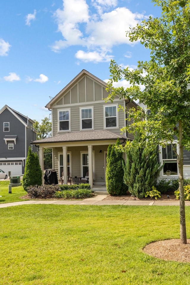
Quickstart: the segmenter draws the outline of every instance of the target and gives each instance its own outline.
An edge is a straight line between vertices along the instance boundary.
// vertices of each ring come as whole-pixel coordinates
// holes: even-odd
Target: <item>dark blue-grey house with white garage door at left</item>
[[[38,151],[31,145],[37,133],[33,124],[34,121],[7,105],[0,110],[0,169],[7,174],[11,171],[11,175],[22,175],[29,146]]]

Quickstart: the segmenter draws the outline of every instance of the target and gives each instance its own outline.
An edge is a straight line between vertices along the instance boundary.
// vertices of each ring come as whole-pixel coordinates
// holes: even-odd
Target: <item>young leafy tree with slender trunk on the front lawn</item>
[[[160,18],[148,18],[130,29],[127,36],[131,42],[140,40],[145,48],[150,49],[150,61],[138,61],[137,68],[130,71],[111,61],[111,79],[108,89],[112,94],[107,100],[113,100],[117,94],[120,98],[140,100],[151,110],[147,115],[143,110],[129,111],[129,119],[134,123],[127,126],[128,132],[140,130],[148,141],[147,146],[178,138],[177,155],[180,191],[180,239],[186,241],[185,202],[183,189],[183,148],[190,149],[190,92],[187,83],[190,79],[190,1],[189,0],[154,0],[162,10]],[[114,88],[113,82],[125,78],[129,88]],[[139,84],[145,86],[140,91]],[[144,118],[143,121],[142,118]],[[134,142],[135,143],[135,142]],[[137,145],[137,144],[136,144]],[[138,144],[140,147],[142,143]],[[126,148],[133,143],[126,144]]]

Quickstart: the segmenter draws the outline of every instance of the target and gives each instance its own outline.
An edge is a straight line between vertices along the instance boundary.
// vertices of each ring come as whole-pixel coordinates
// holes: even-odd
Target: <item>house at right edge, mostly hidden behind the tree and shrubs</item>
[[[189,89],[189,88],[188,88]],[[147,112],[147,106],[144,104],[140,104],[140,107],[142,107],[145,112]],[[178,151],[178,140],[173,140],[172,142],[175,149]],[[164,164],[164,167],[162,168],[159,179],[172,179],[179,177],[179,170],[178,170],[178,164],[177,164],[177,156],[175,152],[172,149],[171,142],[167,142],[165,144],[165,148],[162,146],[159,146],[159,157],[158,161],[161,162],[161,164]],[[183,151],[183,176],[184,178],[190,177],[190,151],[187,151],[184,149]]]

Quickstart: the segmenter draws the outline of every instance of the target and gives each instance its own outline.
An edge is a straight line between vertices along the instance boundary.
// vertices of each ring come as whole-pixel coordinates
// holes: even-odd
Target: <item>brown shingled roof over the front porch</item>
[[[115,134],[108,130],[98,130],[98,131],[80,131],[80,132],[67,132],[60,134],[59,136],[48,137],[42,140],[35,140],[32,143],[60,143],[60,142],[80,142],[80,141],[92,141],[92,140],[117,140],[123,139],[127,140],[125,136],[121,134]]]

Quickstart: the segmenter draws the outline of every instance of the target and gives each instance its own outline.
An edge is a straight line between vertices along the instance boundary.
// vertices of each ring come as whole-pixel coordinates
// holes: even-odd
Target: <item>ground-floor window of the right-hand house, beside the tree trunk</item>
[[[176,143],[173,143],[173,147],[177,151]],[[171,144],[166,144],[165,148],[162,147],[162,163],[164,163],[162,175],[178,175],[177,155],[174,149]]]

